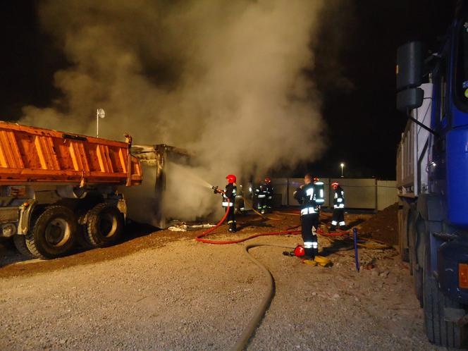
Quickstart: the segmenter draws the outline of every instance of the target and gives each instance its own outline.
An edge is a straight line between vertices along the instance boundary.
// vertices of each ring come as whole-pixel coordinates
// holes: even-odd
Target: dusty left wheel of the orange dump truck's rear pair
[[[64,206],[46,207],[26,234],[27,249],[41,259],[61,257],[73,248],[77,228],[73,211]]]

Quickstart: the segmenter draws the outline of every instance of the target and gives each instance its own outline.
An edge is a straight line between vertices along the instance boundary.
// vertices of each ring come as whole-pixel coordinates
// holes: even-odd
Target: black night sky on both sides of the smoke
[[[297,173],[307,168],[338,176],[344,161],[345,176],[395,178],[395,153],[406,123],[395,110],[396,48],[410,39],[433,44],[450,23],[454,3],[350,0],[343,1],[343,11],[326,8],[321,13],[316,69],[309,74],[323,97],[329,148],[321,161]],[[53,74],[67,65],[60,49],[39,30],[35,4],[0,1],[1,120],[18,118],[26,104],[48,106],[58,94]]]

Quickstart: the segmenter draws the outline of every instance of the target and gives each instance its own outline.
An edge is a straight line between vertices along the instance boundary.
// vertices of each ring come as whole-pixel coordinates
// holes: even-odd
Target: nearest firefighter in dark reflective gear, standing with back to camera
[[[319,253],[316,230],[319,228],[319,204],[316,203],[316,187],[312,176],[304,176],[305,185],[294,192],[294,198],[301,205],[302,240],[304,240],[304,258],[314,259]]]

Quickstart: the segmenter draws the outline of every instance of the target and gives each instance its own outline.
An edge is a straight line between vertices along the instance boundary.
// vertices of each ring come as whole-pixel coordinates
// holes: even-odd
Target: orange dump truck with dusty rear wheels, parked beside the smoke
[[[123,234],[120,185],[140,185],[131,141],[116,142],[0,122],[0,237],[51,259],[110,245]]]

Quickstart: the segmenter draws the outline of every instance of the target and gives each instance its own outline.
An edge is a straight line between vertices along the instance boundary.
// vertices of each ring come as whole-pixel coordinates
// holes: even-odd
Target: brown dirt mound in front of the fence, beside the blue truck
[[[362,223],[358,230],[362,235],[369,235],[382,240],[388,245],[398,244],[398,203],[386,207],[372,218]]]

